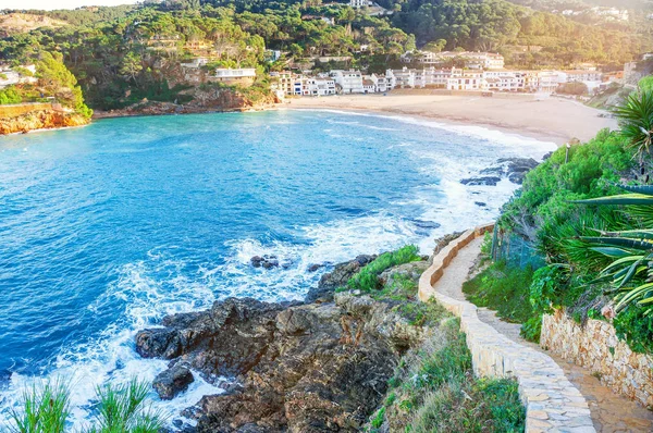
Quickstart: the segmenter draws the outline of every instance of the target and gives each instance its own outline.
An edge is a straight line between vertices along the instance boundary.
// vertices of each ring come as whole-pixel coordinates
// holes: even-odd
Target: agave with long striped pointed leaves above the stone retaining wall
[[[653,186],[620,187],[630,194],[577,202],[629,206],[631,213],[653,218]],[[616,311],[621,311],[634,301],[653,307],[653,228],[597,233],[600,236],[583,236],[581,239],[590,244],[592,250],[614,260],[601,271],[597,281],[612,280],[613,292],[616,293]]]

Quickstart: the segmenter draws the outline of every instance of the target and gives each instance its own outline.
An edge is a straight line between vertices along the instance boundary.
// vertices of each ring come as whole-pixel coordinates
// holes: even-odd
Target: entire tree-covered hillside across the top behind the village
[[[637,33],[586,25],[505,0],[381,0],[394,13],[318,0],[168,0],[140,5],[29,11],[66,23],[30,28],[0,39],[0,62],[34,63],[57,52],[76,77],[89,106],[120,109],[144,99],[192,100],[181,64],[210,59],[214,67],[254,67],[252,92],[269,87],[267,74],[292,66],[357,67],[382,72],[402,53],[483,50],[508,65],[567,67],[578,62],[623,64],[651,40]],[[9,12],[17,11],[5,11]],[[269,51],[281,59],[271,62]],[[326,63],[319,58],[335,58]]]

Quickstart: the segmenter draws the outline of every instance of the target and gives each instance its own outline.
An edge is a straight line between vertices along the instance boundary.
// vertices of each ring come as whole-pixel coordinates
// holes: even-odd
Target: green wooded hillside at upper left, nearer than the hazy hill
[[[414,39],[386,20],[357,14],[343,7],[310,7],[292,2],[266,8],[235,4],[160,4],[100,8],[47,14],[74,25],[39,28],[0,40],[0,59],[33,62],[41,52],[61,52],[79,81],[91,107],[121,108],[143,98],[174,101],[183,88],[180,63],[209,57],[211,67],[283,69],[266,62],[267,49],[291,53],[296,60],[356,53],[357,65],[385,64],[415,47]],[[333,18],[331,25],[320,17]],[[360,53],[360,46],[367,47]],[[352,63],[350,63],[352,64]]]

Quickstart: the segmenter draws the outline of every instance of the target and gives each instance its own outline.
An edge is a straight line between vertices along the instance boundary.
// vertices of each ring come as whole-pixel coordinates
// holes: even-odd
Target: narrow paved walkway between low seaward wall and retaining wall
[[[482,242],[482,237],[477,238],[458,252],[458,256],[444,270],[442,277],[434,284],[435,290],[454,299],[465,300],[463,283],[467,280],[469,270],[480,253]],[[494,311],[485,308],[479,308],[478,317],[509,339],[549,355],[586,397],[596,432],[653,432],[652,411],[626,397],[614,394],[586,369],[543,350],[537,344],[525,341],[519,336],[521,325],[504,322],[496,317]]]

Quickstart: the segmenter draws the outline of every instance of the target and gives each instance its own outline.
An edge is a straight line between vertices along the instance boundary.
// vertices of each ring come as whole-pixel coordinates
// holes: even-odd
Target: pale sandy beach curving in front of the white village
[[[289,109],[359,110],[426,117],[446,123],[479,125],[531,138],[554,141],[558,146],[572,138],[587,141],[605,127],[616,128],[604,111],[582,103],[530,95],[493,98],[480,96],[420,95],[402,91],[383,95],[352,95],[287,99]]]

